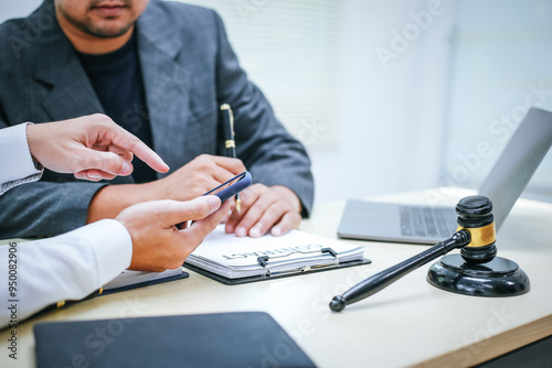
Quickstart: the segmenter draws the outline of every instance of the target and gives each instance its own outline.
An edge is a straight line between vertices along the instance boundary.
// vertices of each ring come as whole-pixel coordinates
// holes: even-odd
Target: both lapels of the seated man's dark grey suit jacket
[[[53,15],[47,7],[53,9],[53,3],[44,2],[36,15]],[[150,1],[137,22],[138,50],[153,149],[169,166],[178,169],[190,160],[184,158],[187,125],[192,115],[191,75],[179,56],[185,50],[185,36],[176,37],[170,26],[160,24],[163,15],[156,1]],[[41,61],[35,67],[35,79],[52,86],[42,105],[50,119],[104,112],[73,46],[55,20],[33,53],[34,59]]]

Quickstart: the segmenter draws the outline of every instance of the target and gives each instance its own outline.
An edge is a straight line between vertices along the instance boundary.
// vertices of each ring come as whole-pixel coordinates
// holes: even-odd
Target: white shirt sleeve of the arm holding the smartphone
[[[87,296],[127,269],[131,257],[130,235],[113,219],[0,246],[0,328],[11,325],[13,311],[19,323],[51,304]]]

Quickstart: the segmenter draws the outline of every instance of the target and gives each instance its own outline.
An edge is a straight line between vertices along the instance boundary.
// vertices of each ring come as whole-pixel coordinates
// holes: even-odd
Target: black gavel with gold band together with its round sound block
[[[456,205],[458,229],[453,236],[396,266],[381,271],[354,285],[330,302],[330,309],[342,311],[346,305],[368,297],[403,275],[460,248],[460,255],[445,256],[432,266],[429,284],[455,293],[476,296],[512,296],[527,293],[529,278],[519,266],[496,257],[497,247],[492,203],[485,196],[470,196]]]

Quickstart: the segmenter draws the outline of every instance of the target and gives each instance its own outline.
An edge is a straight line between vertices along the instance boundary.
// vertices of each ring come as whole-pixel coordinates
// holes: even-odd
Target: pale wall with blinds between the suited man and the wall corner
[[[308,138],[302,141],[312,158],[317,201],[436,185],[455,13],[449,3],[188,1],[219,11],[252,80],[263,88],[288,129],[299,139]],[[328,14],[328,9],[333,13]],[[290,19],[300,22],[301,17],[304,23]],[[326,29],[317,29],[312,20]],[[290,30],[295,32],[291,40]],[[326,42],[320,41],[322,36]],[[309,59],[304,71],[295,66],[301,46],[297,40],[305,42],[301,52],[311,50],[320,56]],[[286,43],[293,43],[287,55],[273,57],[272,52],[285,51]],[[269,50],[272,55],[263,57],[259,50]],[[388,54],[379,57],[378,52]],[[312,69],[321,65],[326,74],[314,80]],[[331,90],[322,96],[319,88]],[[320,101],[314,104],[317,98]],[[293,99],[305,105],[304,111],[290,107]]]

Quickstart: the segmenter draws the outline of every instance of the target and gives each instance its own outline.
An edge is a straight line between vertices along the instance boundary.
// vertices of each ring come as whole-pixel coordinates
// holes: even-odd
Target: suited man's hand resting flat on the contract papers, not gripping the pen
[[[285,186],[254,184],[251,190],[243,191],[241,197],[242,212],[232,212],[226,220],[226,232],[256,238],[270,228],[273,236],[279,236],[299,226],[300,201]]]

